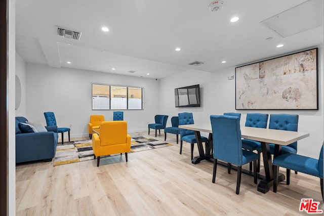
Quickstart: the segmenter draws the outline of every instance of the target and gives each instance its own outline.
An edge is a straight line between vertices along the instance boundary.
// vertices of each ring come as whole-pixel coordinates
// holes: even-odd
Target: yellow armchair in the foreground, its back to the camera
[[[103,121],[100,124],[99,135],[92,135],[92,149],[99,166],[100,156],[125,153],[131,151],[131,136],[127,134],[126,121]]]

